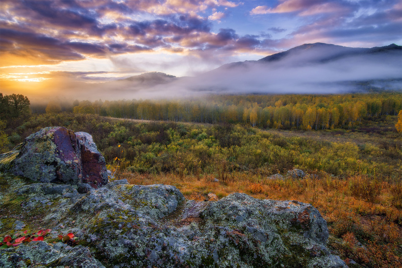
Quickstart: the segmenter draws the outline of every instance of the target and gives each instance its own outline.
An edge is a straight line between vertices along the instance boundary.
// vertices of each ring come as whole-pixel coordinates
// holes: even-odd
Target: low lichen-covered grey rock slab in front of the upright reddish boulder
[[[1,176],[2,185],[13,185],[1,188],[0,212],[11,215],[1,218],[2,235],[18,223],[50,228],[50,238],[73,232],[79,240],[73,247],[30,242],[0,249],[1,267],[13,260],[49,267],[346,267],[328,251],[327,223],[310,204],[238,193],[198,202],[174,186],[126,180],[80,194],[75,185]],[[7,203],[14,196],[21,206]],[[78,256],[87,265],[73,263]]]

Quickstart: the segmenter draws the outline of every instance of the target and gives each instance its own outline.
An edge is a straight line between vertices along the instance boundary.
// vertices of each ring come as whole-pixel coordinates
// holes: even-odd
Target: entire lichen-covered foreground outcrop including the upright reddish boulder
[[[169,185],[106,184],[88,133],[44,128],[0,166],[31,179],[0,173],[0,267],[346,267],[312,205],[239,193],[198,202]],[[17,238],[38,229],[45,241]]]

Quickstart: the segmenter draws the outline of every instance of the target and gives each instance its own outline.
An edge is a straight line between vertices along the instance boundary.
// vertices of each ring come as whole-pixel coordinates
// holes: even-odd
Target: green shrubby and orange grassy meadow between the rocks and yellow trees
[[[285,96],[280,103],[274,97],[278,111],[289,104],[285,98],[292,97]],[[320,106],[338,98],[310,100]],[[370,98],[356,97],[368,101],[365,112],[360,109],[360,117],[353,123],[344,116],[343,124],[317,130],[303,127],[303,121],[301,127],[289,122],[289,130],[283,130],[264,124],[253,127],[250,119],[215,123],[144,121],[104,117],[74,108],[74,113],[49,110],[31,114],[18,123],[9,123],[12,127],[3,133],[10,148],[45,126],[88,132],[113,172],[112,180],[170,184],[188,199],[208,200],[210,193],[222,198],[242,192],[261,199],[311,203],[327,220],[328,246],[350,267],[401,267],[402,136],[395,129],[401,107],[394,95],[385,96],[374,101],[379,107],[375,115],[368,109]],[[389,102],[395,110],[383,112],[384,99],[395,100],[394,104]],[[329,104],[327,107],[331,109]],[[307,175],[302,179],[286,176],[294,168]],[[277,173],[284,178],[270,177]]]

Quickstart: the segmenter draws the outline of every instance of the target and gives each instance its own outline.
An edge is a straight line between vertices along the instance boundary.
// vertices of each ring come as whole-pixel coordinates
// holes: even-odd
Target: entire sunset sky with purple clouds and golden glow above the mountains
[[[0,92],[195,76],[305,43],[402,45],[401,0],[1,0]]]

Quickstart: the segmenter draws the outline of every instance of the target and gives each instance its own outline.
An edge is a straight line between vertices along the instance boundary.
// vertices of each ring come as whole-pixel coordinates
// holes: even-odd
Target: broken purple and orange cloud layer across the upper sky
[[[279,0],[269,2],[273,6],[257,7],[252,6],[254,3],[228,0],[1,1],[0,65],[55,64],[130,53],[166,52],[205,59],[214,66],[241,53],[271,53],[302,43],[321,41],[374,46],[389,41],[396,43],[395,40],[402,42],[399,0]],[[252,27],[245,34],[235,24],[230,29],[216,30],[225,16],[229,19],[239,19],[235,17],[238,13],[248,16],[244,11],[226,10],[243,8],[241,5],[247,10],[253,7],[251,15],[267,14],[267,32],[272,36],[260,32],[263,28],[252,32]],[[281,39],[273,39],[273,36],[281,36]]]

